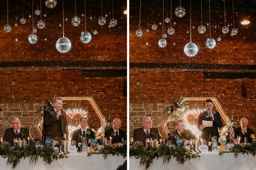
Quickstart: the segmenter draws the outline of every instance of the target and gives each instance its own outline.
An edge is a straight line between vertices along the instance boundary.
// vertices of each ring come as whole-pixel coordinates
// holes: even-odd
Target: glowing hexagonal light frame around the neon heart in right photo
[[[207,99],[211,99],[212,102],[214,103],[215,107],[217,108],[219,114],[221,115],[221,117],[223,118],[223,120],[225,121],[225,123],[227,123],[227,114],[225,113],[225,111],[223,110],[221,104],[219,103],[219,100],[216,97],[198,97],[198,98],[184,98],[185,100],[189,100],[189,101],[196,101],[196,100],[207,100]],[[170,121],[170,115],[165,119],[165,121],[161,124],[162,128],[163,128],[163,132],[165,133],[165,137],[168,137],[168,133],[169,130],[166,126],[166,124]]]

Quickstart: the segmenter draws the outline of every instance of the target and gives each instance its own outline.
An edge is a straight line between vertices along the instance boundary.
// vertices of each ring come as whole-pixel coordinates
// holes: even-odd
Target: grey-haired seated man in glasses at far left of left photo
[[[3,140],[8,141],[14,146],[13,139],[25,139],[28,142],[28,138],[30,140],[30,144],[33,143],[33,139],[31,138],[29,129],[20,128],[19,118],[12,118],[12,128],[6,129],[4,132]]]

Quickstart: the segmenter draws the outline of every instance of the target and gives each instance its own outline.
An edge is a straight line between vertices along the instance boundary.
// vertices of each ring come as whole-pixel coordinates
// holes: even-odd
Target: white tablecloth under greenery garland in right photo
[[[140,166],[140,159],[130,157],[130,170],[144,170],[145,166]],[[178,164],[176,158],[172,158],[167,164],[163,164],[163,159],[154,159],[148,170],[255,170],[256,156],[251,154],[238,154],[235,158],[233,153],[219,155],[218,151],[202,152],[200,158],[187,160],[184,165]]]

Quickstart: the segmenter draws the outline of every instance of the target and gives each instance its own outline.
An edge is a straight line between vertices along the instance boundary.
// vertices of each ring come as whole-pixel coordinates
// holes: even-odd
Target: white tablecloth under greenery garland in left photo
[[[108,155],[107,159],[103,155],[91,155],[87,157],[87,152],[68,154],[68,158],[54,160],[51,165],[46,164],[42,158],[34,164],[30,164],[30,159],[21,159],[15,169],[19,170],[116,170],[119,165],[123,165],[127,158],[122,156]],[[12,170],[11,165],[6,165],[7,159],[0,157],[0,169]]]

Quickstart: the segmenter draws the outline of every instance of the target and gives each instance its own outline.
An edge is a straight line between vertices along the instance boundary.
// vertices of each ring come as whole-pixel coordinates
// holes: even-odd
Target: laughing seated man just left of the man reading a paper
[[[185,129],[183,120],[178,120],[176,122],[176,131],[169,133],[168,136],[169,138],[167,139],[167,141],[170,140],[172,142],[172,145],[174,145],[175,143],[176,146],[178,146],[176,144],[177,138],[187,139],[188,141],[190,141],[190,139],[196,139],[196,136],[192,134],[190,130]],[[182,145],[183,145],[183,142],[182,142]],[[188,145],[190,145],[190,143]]]

